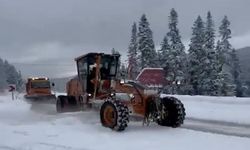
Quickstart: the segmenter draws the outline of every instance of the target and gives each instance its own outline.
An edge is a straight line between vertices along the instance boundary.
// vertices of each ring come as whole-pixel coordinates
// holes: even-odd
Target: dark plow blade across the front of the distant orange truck
[[[55,104],[55,95],[25,95],[24,98],[29,103],[45,103],[45,104]]]

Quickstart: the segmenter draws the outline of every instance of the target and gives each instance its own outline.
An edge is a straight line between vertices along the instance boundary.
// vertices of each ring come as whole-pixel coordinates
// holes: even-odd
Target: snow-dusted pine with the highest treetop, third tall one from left
[[[172,8],[169,16],[169,48],[167,49],[165,70],[167,71],[167,79],[172,83],[172,93],[184,93],[186,86],[186,53],[185,47],[181,41],[178,25],[178,14]],[[180,83],[180,84],[179,84]]]

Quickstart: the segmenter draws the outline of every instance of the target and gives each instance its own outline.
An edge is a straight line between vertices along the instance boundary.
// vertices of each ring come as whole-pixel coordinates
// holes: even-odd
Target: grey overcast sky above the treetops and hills
[[[159,46],[171,8],[185,45],[194,20],[210,10],[216,28],[228,16],[232,45],[241,48],[250,46],[249,6],[250,0],[0,0],[0,57],[26,77],[75,74],[73,59],[91,51],[115,48],[125,60],[132,23],[145,13]]]

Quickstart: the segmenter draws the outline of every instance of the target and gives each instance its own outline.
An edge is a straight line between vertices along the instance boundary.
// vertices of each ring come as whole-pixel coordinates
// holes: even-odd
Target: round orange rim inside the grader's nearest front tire
[[[104,109],[104,122],[105,125],[108,127],[112,127],[115,125],[115,119],[116,119],[116,114],[115,114],[115,110],[112,106],[107,106]]]

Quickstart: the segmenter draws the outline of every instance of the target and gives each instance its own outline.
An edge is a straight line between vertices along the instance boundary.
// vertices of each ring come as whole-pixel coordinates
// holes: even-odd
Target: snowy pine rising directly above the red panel
[[[138,52],[141,69],[157,66],[157,53],[155,51],[153,33],[145,14],[142,15],[139,22]]]

